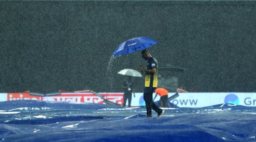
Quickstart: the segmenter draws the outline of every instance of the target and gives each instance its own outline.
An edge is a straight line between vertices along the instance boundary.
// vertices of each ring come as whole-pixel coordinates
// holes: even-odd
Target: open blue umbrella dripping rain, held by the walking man
[[[135,37],[121,43],[113,52],[113,57],[116,57],[119,55],[131,54],[136,51],[144,50],[150,47],[151,45],[155,45],[155,44],[157,44],[157,41],[155,41],[154,39],[151,39],[148,37]],[[138,54],[137,54],[137,58],[140,63]]]

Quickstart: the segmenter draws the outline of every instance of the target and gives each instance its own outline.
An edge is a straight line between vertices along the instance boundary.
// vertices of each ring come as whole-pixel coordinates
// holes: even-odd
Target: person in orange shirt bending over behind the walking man
[[[155,95],[154,99],[157,97],[157,95],[160,96],[160,107],[168,108],[168,91],[165,88],[157,88],[155,90],[155,93],[156,93],[156,95]]]

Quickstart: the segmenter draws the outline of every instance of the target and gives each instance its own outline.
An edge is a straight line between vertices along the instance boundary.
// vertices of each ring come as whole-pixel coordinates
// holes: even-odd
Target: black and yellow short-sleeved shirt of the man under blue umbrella
[[[150,57],[148,59],[148,64],[146,69],[156,68],[157,71],[153,73],[145,73],[145,87],[157,87],[157,72],[158,72],[158,64],[157,60],[154,57]]]

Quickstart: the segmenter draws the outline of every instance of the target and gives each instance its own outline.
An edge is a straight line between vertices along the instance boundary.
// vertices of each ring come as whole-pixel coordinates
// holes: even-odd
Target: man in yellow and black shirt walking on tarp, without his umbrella
[[[143,98],[146,103],[147,117],[152,117],[152,109],[157,112],[157,116],[161,116],[164,110],[159,108],[153,102],[153,92],[157,88],[157,60],[152,57],[147,49],[141,51],[142,58],[148,60],[146,68],[140,67],[140,71],[145,71],[145,88]]]

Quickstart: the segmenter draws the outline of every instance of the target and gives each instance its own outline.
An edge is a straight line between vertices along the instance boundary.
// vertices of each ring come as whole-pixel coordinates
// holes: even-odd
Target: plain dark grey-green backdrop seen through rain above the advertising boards
[[[142,36],[187,91],[255,92],[255,17],[253,1],[0,1],[0,92],[120,92],[139,63],[112,52]]]

